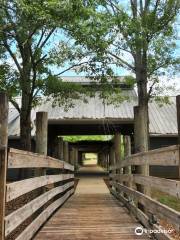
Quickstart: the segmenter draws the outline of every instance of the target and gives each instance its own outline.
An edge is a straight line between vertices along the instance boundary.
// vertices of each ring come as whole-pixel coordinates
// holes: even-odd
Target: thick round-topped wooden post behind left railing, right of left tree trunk
[[[47,155],[47,134],[48,133],[48,113],[36,113],[36,152]],[[42,169],[35,170],[35,176],[45,175],[46,171]]]

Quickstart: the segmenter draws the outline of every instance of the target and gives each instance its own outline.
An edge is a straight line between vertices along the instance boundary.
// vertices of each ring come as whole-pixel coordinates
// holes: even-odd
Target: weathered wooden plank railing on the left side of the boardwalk
[[[3,188],[0,190],[0,202],[1,209],[4,208],[4,213],[6,211],[6,216],[4,219],[1,217],[0,222],[1,239],[8,238],[23,224],[23,230],[15,239],[28,240],[34,236],[51,214],[73,194],[74,167],[64,161],[31,152],[16,149],[9,149],[7,155],[6,152],[6,148],[0,149],[0,171],[1,174],[4,172],[4,177],[1,180],[3,180],[5,189],[5,198]],[[10,183],[6,182],[5,176],[8,169],[22,168],[34,169],[35,171],[44,169],[40,173],[45,175]],[[53,171],[56,171],[56,173],[48,174],[49,169],[51,171],[54,169]],[[30,201],[25,201],[24,204],[19,199],[25,195],[30,196]],[[15,204],[16,200],[20,202],[20,206],[7,214],[7,206],[11,203]],[[31,217],[32,219],[30,219]],[[28,224],[25,223],[27,219],[30,219]]]

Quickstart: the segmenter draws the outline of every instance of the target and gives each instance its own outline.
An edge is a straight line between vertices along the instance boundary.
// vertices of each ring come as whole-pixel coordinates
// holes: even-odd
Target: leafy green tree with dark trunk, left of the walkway
[[[31,150],[31,109],[39,95],[61,94],[64,103],[81,88],[59,77],[82,62],[81,49],[67,41],[65,29],[85,17],[83,1],[0,0],[0,90],[20,114],[21,147]],[[63,34],[61,34],[63,32]],[[55,74],[53,69],[64,67]],[[74,91],[72,91],[74,89]],[[70,96],[74,92],[74,96]],[[15,96],[21,95],[21,104]]]

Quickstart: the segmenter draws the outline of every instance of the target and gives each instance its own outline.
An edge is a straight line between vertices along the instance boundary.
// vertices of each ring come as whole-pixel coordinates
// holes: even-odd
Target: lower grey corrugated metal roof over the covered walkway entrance
[[[37,111],[47,111],[49,121],[63,122],[67,120],[94,121],[109,119],[116,122],[133,121],[133,106],[137,105],[137,97],[134,90],[124,90],[124,94],[131,96],[130,100],[123,101],[120,105],[104,104],[103,100],[97,95],[89,98],[88,103],[75,100],[74,108],[68,111],[64,107],[52,107],[52,102],[44,102],[40,106],[32,110],[31,118],[33,122],[32,136],[35,134],[35,116]],[[149,130],[154,135],[176,135],[177,134],[177,117],[175,98],[171,98],[171,105],[159,106],[156,102],[149,103]],[[10,108],[9,110],[9,136],[19,136],[19,114],[17,110]]]

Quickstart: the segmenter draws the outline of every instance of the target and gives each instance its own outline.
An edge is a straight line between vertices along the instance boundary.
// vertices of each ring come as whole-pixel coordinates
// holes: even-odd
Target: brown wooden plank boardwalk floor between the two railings
[[[49,219],[35,240],[148,239],[140,226],[109,193],[103,179],[81,178],[75,194]]]

